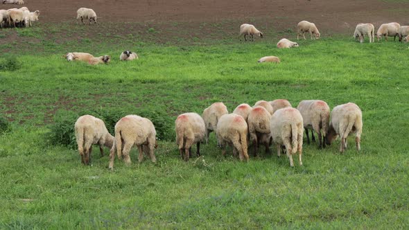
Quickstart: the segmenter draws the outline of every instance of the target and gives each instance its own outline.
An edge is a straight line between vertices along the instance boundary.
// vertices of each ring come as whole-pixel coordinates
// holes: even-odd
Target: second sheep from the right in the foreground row
[[[297,107],[304,122],[307,143],[310,143],[308,130],[311,130],[311,137],[315,141],[313,130],[318,134],[318,148],[325,147],[325,135],[329,125],[329,106],[323,100],[302,100]]]

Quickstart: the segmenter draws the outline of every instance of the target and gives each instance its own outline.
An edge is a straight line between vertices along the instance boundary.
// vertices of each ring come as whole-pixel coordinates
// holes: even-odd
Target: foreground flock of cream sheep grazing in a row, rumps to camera
[[[298,152],[299,165],[302,166],[302,144],[304,129],[306,141],[315,141],[317,133],[318,147],[325,148],[340,136],[340,152],[347,148],[347,136],[355,133],[356,149],[360,150],[360,135],[362,133],[362,112],[358,105],[347,103],[333,108],[330,119],[330,109],[323,100],[302,100],[297,109],[288,100],[260,100],[253,107],[241,104],[229,114],[223,103],[213,103],[204,109],[202,116],[189,112],[180,114],[175,121],[176,144],[180,157],[189,161],[191,146],[196,144],[197,155],[200,156],[200,143],[208,142],[210,132],[216,133],[218,146],[223,156],[227,145],[233,149],[241,161],[249,160],[248,147],[252,144],[254,156],[259,145],[264,145],[270,152],[270,145],[275,144],[278,157],[286,152],[290,166],[294,166],[293,154]],[[75,123],[76,141],[81,162],[89,164],[92,145],[98,144],[103,155],[103,146],[110,148],[109,168],[114,168],[115,153],[125,163],[131,163],[130,150],[137,145],[138,160],[143,160],[145,153],[150,160],[156,162],[154,150],[157,148],[156,130],[148,118],[128,115],[121,118],[115,125],[115,136],[112,136],[105,123],[94,116],[80,116]]]

